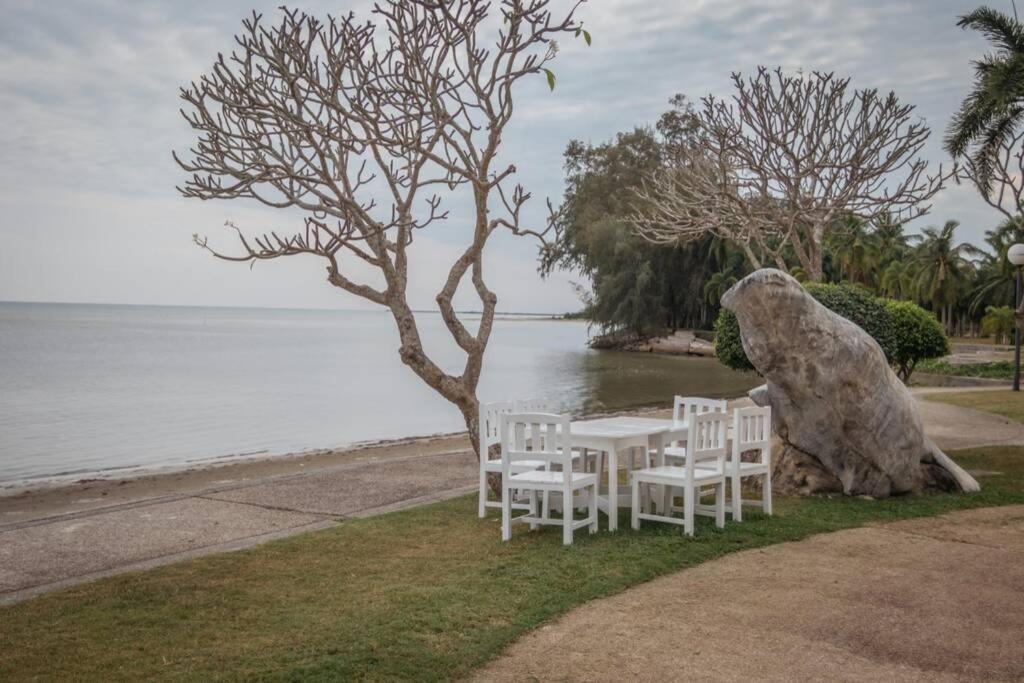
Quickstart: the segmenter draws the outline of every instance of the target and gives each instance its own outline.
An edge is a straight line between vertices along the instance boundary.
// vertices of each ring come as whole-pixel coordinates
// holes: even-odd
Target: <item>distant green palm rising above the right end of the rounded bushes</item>
[[[958,226],[957,221],[947,220],[941,228],[926,227],[913,255],[913,290],[922,303],[939,313],[947,332],[953,329],[954,306],[971,281],[972,257],[982,254],[974,245],[955,244]]]

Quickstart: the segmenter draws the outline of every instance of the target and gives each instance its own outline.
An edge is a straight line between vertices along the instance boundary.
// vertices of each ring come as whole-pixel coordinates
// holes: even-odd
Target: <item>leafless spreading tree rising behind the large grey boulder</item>
[[[659,243],[715,234],[755,268],[785,269],[792,250],[821,280],[825,232],[857,216],[905,222],[928,212],[949,177],[919,157],[931,131],[890,92],[851,92],[849,79],[764,67],[732,75],[731,99],[701,100],[694,144],[639,193],[633,223]]]

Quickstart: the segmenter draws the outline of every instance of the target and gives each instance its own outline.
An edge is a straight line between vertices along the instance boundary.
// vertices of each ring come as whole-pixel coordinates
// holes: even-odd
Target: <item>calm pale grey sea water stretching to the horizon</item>
[[[428,352],[460,354],[421,315]],[[484,400],[599,412],[738,394],[714,360],[587,348],[587,326],[505,317]],[[463,428],[398,360],[387,312],[0,303],[0,482],[182,467]]]

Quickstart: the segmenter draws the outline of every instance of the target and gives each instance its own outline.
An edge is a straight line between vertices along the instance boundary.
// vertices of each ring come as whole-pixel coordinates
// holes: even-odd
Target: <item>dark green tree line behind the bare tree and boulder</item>
[[[586,317],[605,333],[710,329],[722,295],[754,269],[744,246],[711,231],[674,242],[638,234],[635,216],[644,203],[644,179],[673,168],[698,126],[685,96],[670,102],[653,128],[637,127],[597,144],[573,140],[565,150],[565,202],[558,239],[545,253],[542,271],[560,267],[588,278]],[[822,231],[817,280],[918,303],[950,335],[994,334],[1005,340],[1013,330],[1008,307],[1014,302],[1006,252],[1024,242],[1024,221],[1008,216],[985,232],[982,245],[959,242],[957,228],[948,220],[908,234],[888,212],[871,220],[840,215]],[[665,229],[672,229],[668,219]],[[768,265],[813,280],[793,248],[779,239],[770,245],[778,258],[768,259]]]

